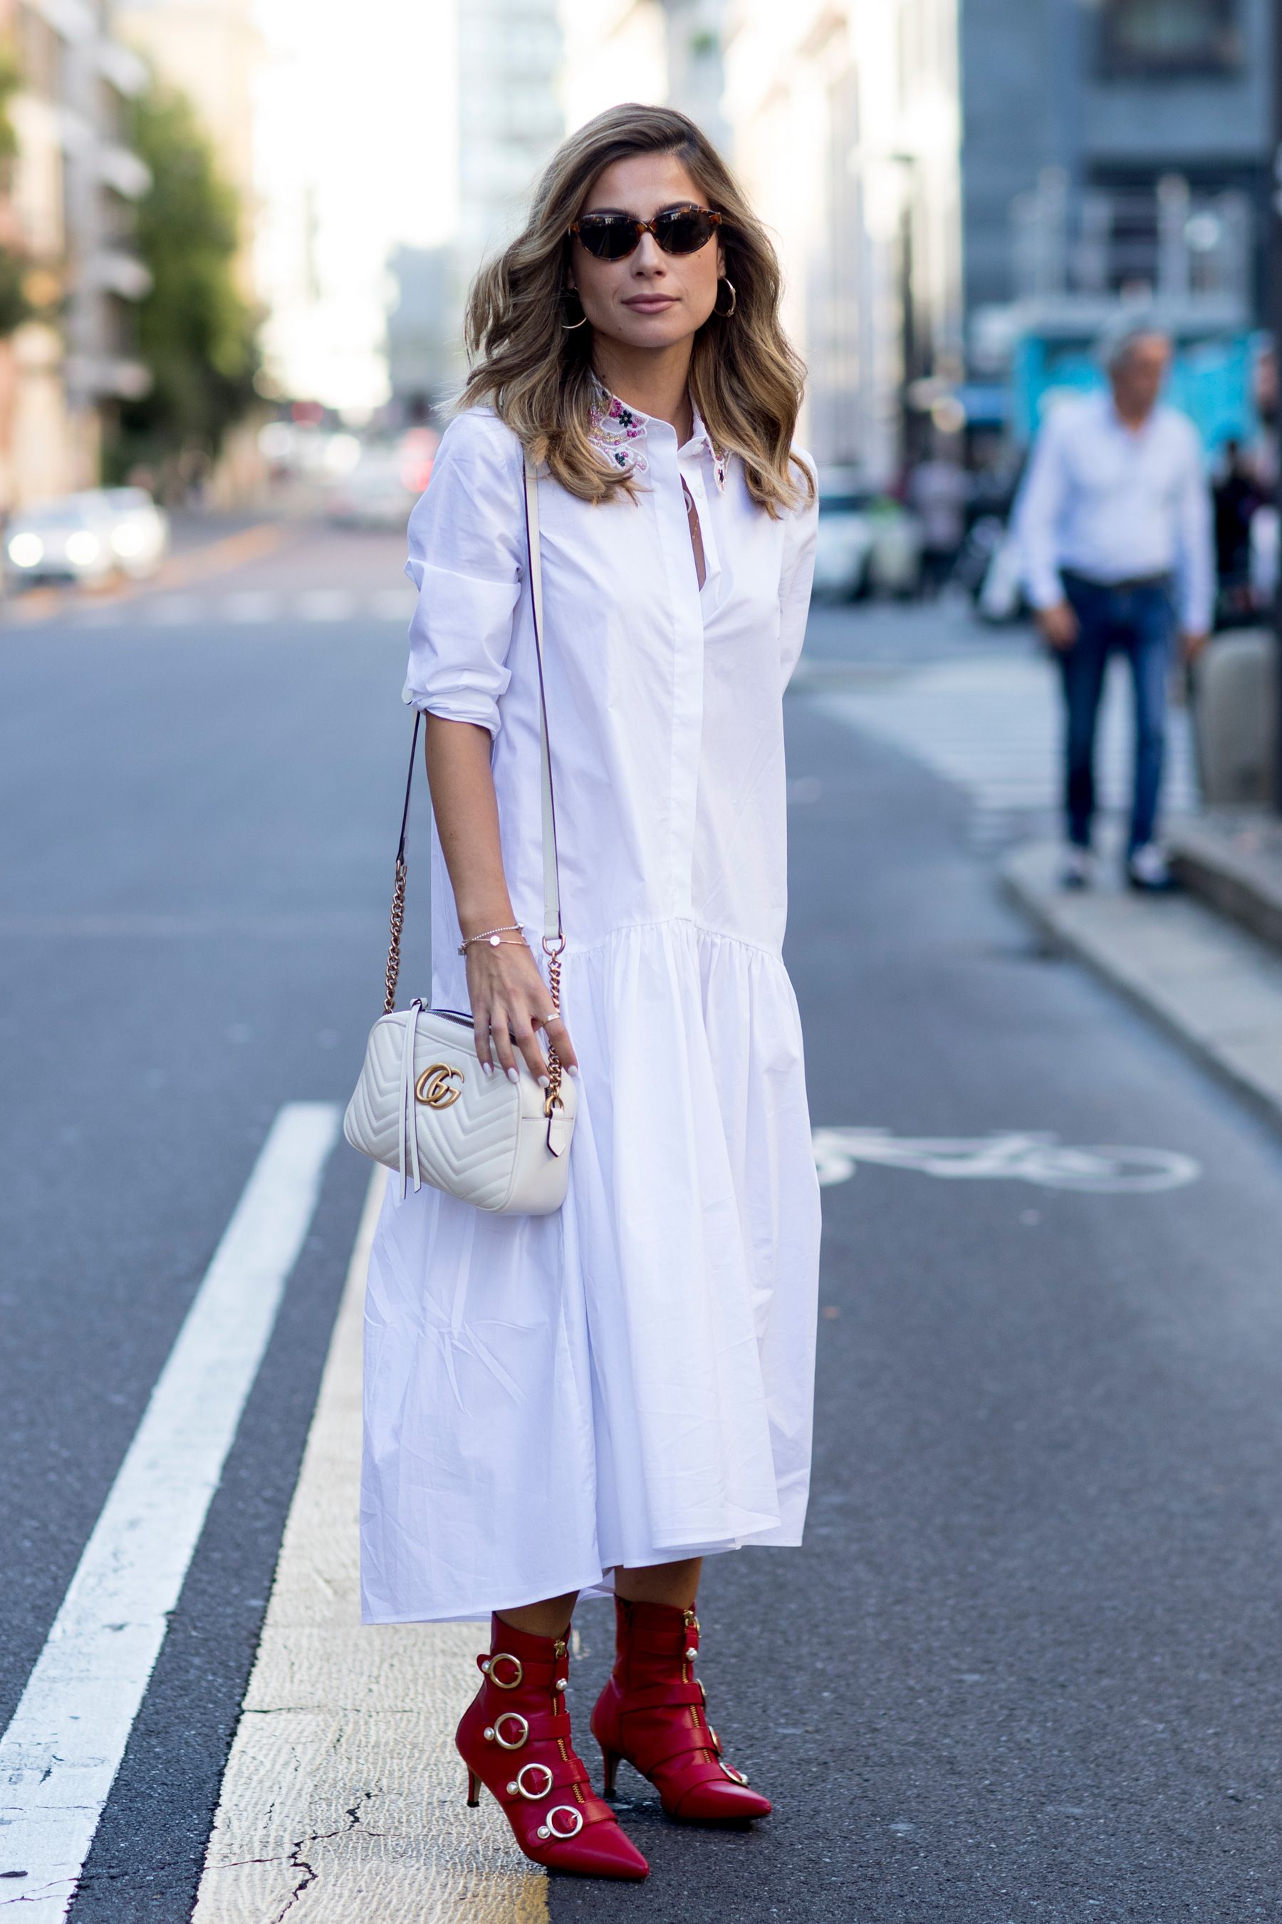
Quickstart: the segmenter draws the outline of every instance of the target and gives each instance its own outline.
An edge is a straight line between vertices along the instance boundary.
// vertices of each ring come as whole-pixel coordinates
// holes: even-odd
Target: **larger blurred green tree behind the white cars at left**
[[[152,391],[121,408],[110,466],[215,458],[254,404],[258,316],[234,273],[240,208],[190,100],[152,87],[133,104],[133,146],[152,169],[136,244],[152,275],[138,304],[138,352]]]

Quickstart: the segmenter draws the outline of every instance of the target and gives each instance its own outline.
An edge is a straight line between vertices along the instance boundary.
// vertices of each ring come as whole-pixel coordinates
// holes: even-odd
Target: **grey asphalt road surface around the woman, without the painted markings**
[[[404,641],[288,598],[396,568],[394,541],[302,533],[236,573],[284,595],[271,625],[204,585],[175,627],[138,604],[0,629],[0,1726],[271,1118],[354,1081]],[[825,658],[861,633],[886,658],[832,623]],[[653,1876],[552,1880],[552,1918],[1270,1918],[1282,1149],[1038,954],[951,789],[807,696],[788,723],[815,1124],[1046,1131],[1199,1174],[1090,1193],[861,1164],[825,1189],[807,1545],[715,1560],[702,1603],[713,1722],[775,1816],[677,1830],[625,1772]],[[363,1187],[336,1152],[73,1924],[190,1912]],[[580,1720],[607,1624],[580,1612]]]

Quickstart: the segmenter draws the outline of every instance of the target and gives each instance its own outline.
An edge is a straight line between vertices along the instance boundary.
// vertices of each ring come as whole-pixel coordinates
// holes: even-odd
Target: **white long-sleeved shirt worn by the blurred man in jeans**
[[[1103,583],[1169,573],[1180,625],[1211,627],[1211,494],[1197,429],[1176,408],[1128,427],[1111,394],[1063,402],[1038,437],[1015,529],[1034,608],[1063,600],[1065,568]]]

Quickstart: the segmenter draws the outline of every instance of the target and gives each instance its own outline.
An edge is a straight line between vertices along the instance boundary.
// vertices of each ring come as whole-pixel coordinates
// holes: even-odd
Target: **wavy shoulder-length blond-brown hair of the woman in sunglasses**
[[[752,498],[778,516],[815,493],[805,462],[792,452],[805,369],[778,323],[778,260],[711,140],[673,108],[609,108],[552,156],[525,231],[473,281],[465,321],[471,373],[459,404],[492,406],[534,460],[582,500],[634,491],[632,477],[607,468],[592,448],[592,329],[565,327],[571,221],[596,177],[630,154],[673,154],[703,204],[725,215],[717,233],[734,314],[713,312],[696,333],[690,394],[717,448],[740,456]]]

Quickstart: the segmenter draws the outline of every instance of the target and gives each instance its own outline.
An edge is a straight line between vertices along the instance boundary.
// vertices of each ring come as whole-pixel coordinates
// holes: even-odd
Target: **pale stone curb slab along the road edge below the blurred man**
[[[1055,843],[1015,848],[1005,895],[1282,1133],[1282,960],[1186,895],[1065,891],[1059,862]]]

